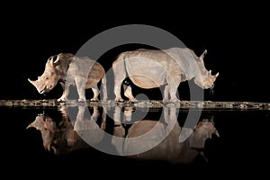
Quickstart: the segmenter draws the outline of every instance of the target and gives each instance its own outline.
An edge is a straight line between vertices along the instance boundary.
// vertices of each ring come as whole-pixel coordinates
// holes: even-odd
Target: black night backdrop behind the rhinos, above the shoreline
[[[43,73],[51,55],[76,53],[94,35],[113,27],[147,24],[174,34],[197,55],[208,49],[205,67],[220,76],[214,94],[205,90],[206,100],[269,102],[269,29],[264,4],[104,5],[8,6],[14,15],[3,15],[0,99],[58,98],[58,86],[43,96],[27,81]],[[108,54],[103,66],[110,68],[123,50]],[[134,87],[134,94],[139,91]],[[187,83],[182,83],[181,99],[188,99],[187,92]]]

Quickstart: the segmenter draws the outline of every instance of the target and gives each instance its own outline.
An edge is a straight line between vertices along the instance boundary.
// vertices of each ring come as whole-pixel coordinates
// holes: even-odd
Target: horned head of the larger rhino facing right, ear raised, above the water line
[[[194,78],[194,83],[196,85],[199,85],[200,87],[202,87],[202,89],[209,89],[209,88],[212,89],[214,86],[214,82],[216,81],[217,76],[219,76],[219,72],[216,73],[215,75],[211,75],[211,70],[207,70],[204,67],[203,58],[204,58],[206,53],[207,53],[207,50],[205,49],[202,52],[202,55],[200,57],[198,57],[198,59],[196,60],[198,67],[201,71],[201,76],[196,76]]]

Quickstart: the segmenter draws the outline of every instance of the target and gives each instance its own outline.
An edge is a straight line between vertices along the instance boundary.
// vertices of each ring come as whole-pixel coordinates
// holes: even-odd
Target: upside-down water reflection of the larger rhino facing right
[[[130,111],[125,110],[125,114],[130,115]],[[204,156],[204,144],[206,139],[211,139],[212,135],[220,136],[218,130],[214,127],[214,123],[208,119],[202,119],[199,121],[195,129],[183,128],[179,126],[176,121],[176,109],[175,107],[164,107],[164,120],[142,120],[133,123],[128,132],[124,133],[124,128],[116,121],[114,128],[114,137],[125,137],[121,140],[112,139],[115,147],[120,154],[131,154],[132,158],[137,159],[151,159],[151,160],[166,160],[171,163],[192,163],[195,157]],[[115,112],[119,112],[118,110]],[[115,114],[115,117],[120,117],[119,114]],[[129,117],[130,118],[130,117]],[[192,130],[191,135],[184,140],[180,140],[180,132],[185,131],[187,134]],[[151,131],[148,136],[144,134]],[[132,138],[140,137],[138,140]],[[159,139],[163,139],[160,143],[157,143]],[[157,146],[153,146],[157,144]],[[151,148],[152,147],[152,148]],[[148,149],[142,153],[135,153]]]

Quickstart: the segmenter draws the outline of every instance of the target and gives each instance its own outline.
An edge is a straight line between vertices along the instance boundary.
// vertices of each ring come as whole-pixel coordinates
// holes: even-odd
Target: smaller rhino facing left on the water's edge
[[[107,99],[106,76],[103,66],[87,57],[78,58],[71,53],[59,53],[48,58],[45,70],[37,80],[28,78],[40,94],[48,93],[58,82],[63,87],[63,94],[58,101],[67,101],[69,85],[76,85],[78,101],[85,101],[85,89],[92,88],[94,97],[91,101],[98,101],[100,91],[98,83],[102,82],[103,101]]]

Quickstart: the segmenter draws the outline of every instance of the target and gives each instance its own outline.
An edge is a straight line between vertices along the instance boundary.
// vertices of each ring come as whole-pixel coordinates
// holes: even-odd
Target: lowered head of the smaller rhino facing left
[[[54,58],[57,59],[54,61]],[[46,62],[43,74],[38,76],[37,80],[28,78],[28,81],[37,88],[40,94],[48,93],[58,84],[59,76],[56,68],[57,62],[58,56],[50,57]]]

